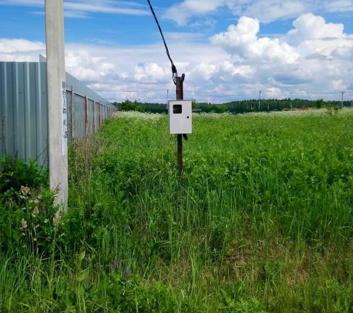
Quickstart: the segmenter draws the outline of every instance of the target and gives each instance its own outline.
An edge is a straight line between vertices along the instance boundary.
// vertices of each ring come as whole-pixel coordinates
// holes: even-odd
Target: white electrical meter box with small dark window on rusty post
[[[173,100],[168,102],[169,134],[192,133],[191,100]]]

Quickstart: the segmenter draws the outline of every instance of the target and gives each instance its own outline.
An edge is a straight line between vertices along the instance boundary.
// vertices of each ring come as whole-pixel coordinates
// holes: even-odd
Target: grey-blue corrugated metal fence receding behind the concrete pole
[[[0,62],[0,156],[47,162],[46,63]],[[114,106],[66,73],[68,139],[84,138]]]

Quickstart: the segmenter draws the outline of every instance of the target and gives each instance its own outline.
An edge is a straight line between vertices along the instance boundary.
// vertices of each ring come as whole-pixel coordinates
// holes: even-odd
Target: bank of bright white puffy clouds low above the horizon
[[[337,99],[339,93],[326,92],[353,89],[353,36],[344,32],[342,24],[307,13],[282,37],[261,37],[260,27],[258,20],[242,17],[211,36],[210,42],[171,36],[169,49],[178,73],[186,74],[185,98],[242,100],[267,90],[272,92],[264,92],[264,98]],[[1,61],[37,61],[39,53],[45,54],[44,43],[0,39]],[[171,65],[161,43],[66,44],[66,70],[111,101],[125,97],[166,101],[166,91],[126,90],[169,89],[169,98],[175,96]]]

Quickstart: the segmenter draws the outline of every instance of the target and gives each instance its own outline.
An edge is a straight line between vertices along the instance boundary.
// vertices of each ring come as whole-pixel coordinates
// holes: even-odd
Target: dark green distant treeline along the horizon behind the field
[[[139,112],[153,112],[153,113],[167,113],[167,105],[161,103],[141,103],[126,99],[125,102],[114,102],[113,105],[122,111],[139,111]],[[282,111],[283,109],[300,109],[307,108],[322,108],[326,105],[333,105],[341,107],[340,101],[323,101],[318,100],[303,100],[303,99],[265,99],[259,100],[242,100],[232,101],[222,104],[214,103],[199,103],[193,101],[193,109],[199,109],[202,112],[232,112],[245,113],[254,111]],[[344,106],[351,106],[350,101],[344,101]]]

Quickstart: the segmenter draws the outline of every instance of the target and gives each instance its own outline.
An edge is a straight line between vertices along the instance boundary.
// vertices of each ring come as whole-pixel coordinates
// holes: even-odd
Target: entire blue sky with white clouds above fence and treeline
[[[151,1],[185,98],[353,98],[353,0]],[[0,0],[0,21],[0,61],[45,54],[44,0]],[[110,101],[175,96],[146,0],[66,0],[65,42],[66,70]]]

